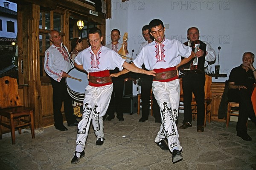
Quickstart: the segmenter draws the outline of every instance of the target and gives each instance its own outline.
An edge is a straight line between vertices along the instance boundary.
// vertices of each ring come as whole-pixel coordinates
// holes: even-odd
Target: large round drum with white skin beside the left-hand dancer
[[[67,74],[82,80],[78,81],[73,78],[66,78],[67,92],[76,101],[84,101],[85,88],[89,84],[87,74],[85,72],[79,71],[75,67],[70,69]]]

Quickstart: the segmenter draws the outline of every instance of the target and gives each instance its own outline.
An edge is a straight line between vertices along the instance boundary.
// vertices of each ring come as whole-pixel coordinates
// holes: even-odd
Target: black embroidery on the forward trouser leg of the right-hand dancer
[[[165,131],[166,133],[166,138],[168,138],[169,136],[171,135],[176,135],[176,132],[175,132],[175,129],[174,129],[174,126],[173,126],[173,123],[174,123],[174,118],[173,118],[173,115],[172,115],[172,108],[171,107],[167,107],[167,103],[164,102],[163,103],[163,110],[161,110],[162,112],[162,115],[163,115],[163,130]],[[172,128],[172,132],[168,132],[168,130],[166,130],[166,127],[165,127],[165,124],[167,123],[166,121],[166,115],[170,115],[169,118],[170,118],[170,123],[171,123],[171,128]]]

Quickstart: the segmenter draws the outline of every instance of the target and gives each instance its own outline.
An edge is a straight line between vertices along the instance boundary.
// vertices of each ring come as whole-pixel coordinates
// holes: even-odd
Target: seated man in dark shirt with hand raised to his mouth
[[[256,117],[251,102],[253,83],[256,80],[256,69],[253,67],[254,54],[245,52],[243,63],[233,68],[229,76],[229,101],[239,102],[239,117],[236,124],[237,136],[245,141],[252,138],[247,134],[248,118],[256,124]]]

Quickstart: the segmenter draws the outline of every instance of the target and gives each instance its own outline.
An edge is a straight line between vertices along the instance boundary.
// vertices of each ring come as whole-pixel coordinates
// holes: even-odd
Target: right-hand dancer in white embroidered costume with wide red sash
[[[154,42],[146,45],[134,60],[134,65],[154,70],[156,75],[153,78],[152,91],[161,110],[161,127],[155,138],[157,146],[166,148],[172,152],[172,161],[176,163],[182,160],[182,147],[180,146],[179,134],[175,121],[178,118],[180,102],[180,80],[177,75],[177,68],[195,57],[192,49],[178,40],[165,38],[165,28],[159,19],[151,20],[150,34]],[[181,56],[184,59],[181,61]],[[116,76],[127,71],[119,72]],[[167,138],[168,146],[164,142]]]

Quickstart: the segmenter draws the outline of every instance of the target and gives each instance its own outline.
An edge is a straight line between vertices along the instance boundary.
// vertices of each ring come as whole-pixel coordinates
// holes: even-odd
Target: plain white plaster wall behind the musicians
[[[137,54],[144,41],[141,29],[152,19],[160,19],[166,29],[166,38],[186,39],[189,27],[196,26],[200,40],[220,50],[220,72],[229,76],[232,68],[241,64],[244,52],[256,53],[256,1],[255,0],[112,0],[112,19],[106,20],[106,41],[117,28],[121,35],[128,32],[128,50]],[[120,41],[121,42],[121,41]],[[217,59],[218,60],[218,59]],[[256,62],[253,63],[256,67]],[[217,65],[217,61],[212,65]],[[212,78],[224,82],[227,78]]]

